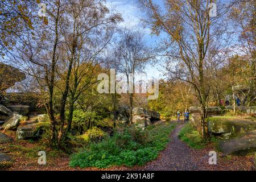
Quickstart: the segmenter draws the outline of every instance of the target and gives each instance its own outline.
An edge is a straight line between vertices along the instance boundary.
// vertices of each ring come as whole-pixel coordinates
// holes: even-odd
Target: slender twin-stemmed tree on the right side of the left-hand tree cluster
[[[62,50],[64,54],[61,55],[60,59],[63,60],[64,65],[67,62],[67,71],[64,73],[65,83],[60,105],[59,140],[64,134],[65,106],[69,91],[71,91],[72,102],[69,105],[68,131],[71,129],[72,105],[83,90],[88,89],[92,84],[90,80],[82,82],[82,79],[93,74],[97,55],[109,43],[115,24],[121,20],[119,14],[109,14],[106,6],[96,0],[69,0],[68,5],[65,6],[65,12],[67,12],[63,18],[65,23],[61,28],[61,34],[64,38]],[[69,29],[70,27],[72,28]],[[82,64],[87,67],[80,68]],[[74,76],[73,90],[69,90],[72,71]],[[80,87],[80,85],[82,86]]]

